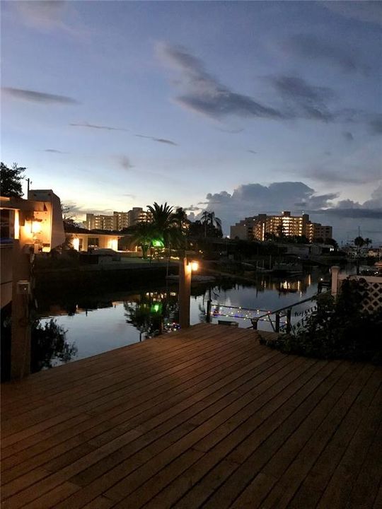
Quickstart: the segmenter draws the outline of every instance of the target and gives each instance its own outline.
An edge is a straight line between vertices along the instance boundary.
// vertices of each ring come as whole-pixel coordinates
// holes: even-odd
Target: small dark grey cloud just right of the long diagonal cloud
[[[326,105],[335,94],[330,88],[313,86],[296,76],[271,76],[268,78],[277,93],[286,102],[286,117],[303,117],[332,121],[334,115]]]

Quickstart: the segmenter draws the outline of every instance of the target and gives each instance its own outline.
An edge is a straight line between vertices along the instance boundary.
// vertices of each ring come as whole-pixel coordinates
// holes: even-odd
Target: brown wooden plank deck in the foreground
[[[2,508],[382,508],[382,370],[198,324],[2,385]]]

